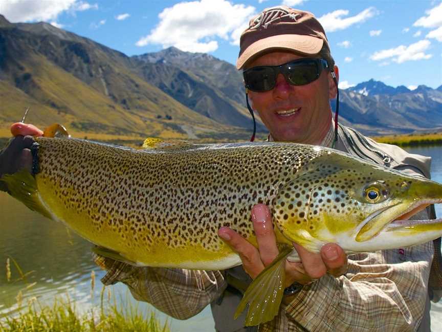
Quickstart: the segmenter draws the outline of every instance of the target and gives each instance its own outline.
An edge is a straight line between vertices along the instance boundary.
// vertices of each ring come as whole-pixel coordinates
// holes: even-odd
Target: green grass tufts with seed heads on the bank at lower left
[[[20,277],[12,280],[12,265]],[[7,282],[24,281],[28,284],[26,276],[18,263],[9,257],[6,261]],[[27,305],[23,305],[23,292],[34,286],[28,284],[18,292],[16,297],[17,310],[0,319],[2,332],[170,332],[167,321],[162,325],[154,312],[143,313],[137,304],[126,299],[121,299],[117,304],[115,294],[112,296],[111,288],[103,286],[100,292],[100,304],[92,305],[86,313],[80,313],[75,302],[69,294],[66,299],[59,296],[54,298],[53,304],[40,303],[36,297],[29,298]],[[91,298],[94,298],[95,272],[91,273]],[[105,298],[105,293],[107,296]]]

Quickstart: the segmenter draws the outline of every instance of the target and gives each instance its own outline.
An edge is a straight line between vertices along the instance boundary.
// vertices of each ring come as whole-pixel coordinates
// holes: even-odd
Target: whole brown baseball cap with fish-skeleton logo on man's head
[[[318,54],[324,43],[328,46],[324,28],[312,13],[286,6],[266,8],[242,32],[236,68],[272,49]]]

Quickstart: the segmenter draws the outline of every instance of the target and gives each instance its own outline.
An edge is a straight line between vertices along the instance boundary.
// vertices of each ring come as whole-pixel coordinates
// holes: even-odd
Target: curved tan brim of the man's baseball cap
[[[236,69],[241,69],[247,61],[264,51],[284,49],[311,55],[318,54],[323,44],[323,39],[307,35],[283,34],[259,39],[238,57]]]

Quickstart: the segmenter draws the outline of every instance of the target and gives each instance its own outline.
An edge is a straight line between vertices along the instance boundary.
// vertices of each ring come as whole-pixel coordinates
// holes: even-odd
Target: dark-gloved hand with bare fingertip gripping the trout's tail
[[[13,174],[23,168],[31,172],[32,155],[30,148],[34,143],[33,136],[43,135],[43,132],[33,124],[21,122],[14,123],[11,126],[11,133],[15,137],[5,149],[0,151],[0,177],[3,174]],[[0,182],[0,190],[8,190],[4,182]]]

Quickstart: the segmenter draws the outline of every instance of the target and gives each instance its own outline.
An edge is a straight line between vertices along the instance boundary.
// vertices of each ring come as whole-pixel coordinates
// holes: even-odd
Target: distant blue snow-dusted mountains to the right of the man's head
[[[370,79],[340,90],[340,114],[370,134],[409,133],[442,128],[442,91],[419,86],[411,91]],[[333,103],[332,103],[333,106]]]

